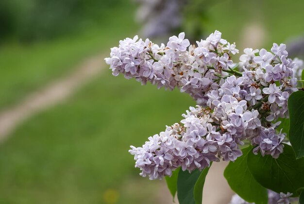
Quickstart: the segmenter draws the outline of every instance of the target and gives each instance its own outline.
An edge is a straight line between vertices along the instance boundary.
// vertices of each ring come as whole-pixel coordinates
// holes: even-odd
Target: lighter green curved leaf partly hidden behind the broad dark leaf
[[[224,176],[231,189],[242,199],[249,203],[267,204],[267,189],[255,181],[248,169],[247,157],[252,152],[252,148],[247,147],[242,152],[243,155],[237,158],[235,162],[229,162],[224,171]]]

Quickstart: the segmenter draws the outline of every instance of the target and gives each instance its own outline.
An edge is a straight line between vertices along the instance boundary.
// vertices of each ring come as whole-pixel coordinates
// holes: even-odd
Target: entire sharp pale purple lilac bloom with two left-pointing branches
[[[142,147],[131,146],[141,175],[161,179],[178,167],[191,172],[219,158],[235,161],[244,140],[251,141],[253,153],[277,158],[286,135],[276,130],[277,119],[288,117],[287,99],[298,90],[293,69],[299,66],[285,49],[275,43],[270,51],[247,48],[236,64],[231,59],[238,53],[235,43],[222,39],[219,31],[196,46],[181,33],[170,37],[167,46],[135,36],[112,48],[105,61],[113,75],[177,87],[198,104]]]

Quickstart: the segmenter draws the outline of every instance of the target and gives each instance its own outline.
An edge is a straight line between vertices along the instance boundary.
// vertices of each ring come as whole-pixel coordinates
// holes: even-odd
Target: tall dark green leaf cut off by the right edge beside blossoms
[[[289,140],[297,158],[304,156],[304,91],[293,92],[288,99]]]

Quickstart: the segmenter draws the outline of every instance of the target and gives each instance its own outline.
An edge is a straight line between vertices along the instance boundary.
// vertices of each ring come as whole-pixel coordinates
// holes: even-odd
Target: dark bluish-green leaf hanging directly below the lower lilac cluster
[[[209,168],[208,168],[209,169]],[[187,170],[183,171],[180,170],[178,173],[177,179],[177,198],[179,204],[196,204],[196,200],[194,200],[194,196],[199,196],[199,190],[203,192],[203,183],[204,183],[204,176],[201,174],[207,174],[208,170],[199,171],[194,170],[189,173]],[[200,179],[199,179],[200,178]],[[197,181],[200,180],[198,183]],[[197,184],[196,184],[197,183]],[[195,186],[197,186],[195,188]],[[194,193],[194,189],[196,193]]]

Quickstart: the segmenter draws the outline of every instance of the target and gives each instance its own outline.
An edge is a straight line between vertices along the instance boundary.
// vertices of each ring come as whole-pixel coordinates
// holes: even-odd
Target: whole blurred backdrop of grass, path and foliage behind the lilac
[[[135,34],[166,43],[185,31],[195,42],[215,30],[240,53],[276,42],[303,58],[303,9],[299,0],[0,0],[0,204],[170,203],[164,181],[141,178],[128,150],[195,102],[113,77],[103,58]]]

